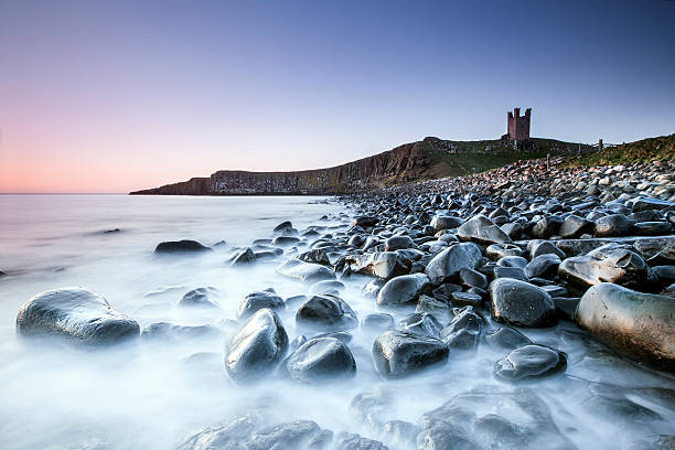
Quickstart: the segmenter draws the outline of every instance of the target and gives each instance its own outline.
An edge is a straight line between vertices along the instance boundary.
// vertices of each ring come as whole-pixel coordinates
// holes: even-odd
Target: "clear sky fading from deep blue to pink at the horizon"
[[[675,132],[675,1],[0,0],[0,192]]]

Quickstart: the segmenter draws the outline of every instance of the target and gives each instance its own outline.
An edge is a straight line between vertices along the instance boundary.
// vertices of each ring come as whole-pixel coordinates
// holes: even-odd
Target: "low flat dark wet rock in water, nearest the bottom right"
[[[527,344],[497,361],[494,374],[510,382],[559,373],[567,366],[567,355],[544,345]]]

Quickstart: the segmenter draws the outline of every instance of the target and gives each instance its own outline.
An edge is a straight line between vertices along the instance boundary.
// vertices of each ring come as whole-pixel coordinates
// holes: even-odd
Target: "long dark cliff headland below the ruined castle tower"
[[[296,172],[221,170],[208,178],[131,192],[146,195],[301,195],[341,194],[410,181],[456,176],[525,158],[569,153],[577,144],[533,139],[514,149],[507,141],[448,141],[425,138],[393,150],[328,169]]]

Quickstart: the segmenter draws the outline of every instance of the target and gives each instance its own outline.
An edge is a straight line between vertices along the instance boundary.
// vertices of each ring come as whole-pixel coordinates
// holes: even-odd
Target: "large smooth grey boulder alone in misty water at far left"
[[[53,289],[28,300],[19,309],[17,330],[23,335],[57,334],[86,344],[110,344],[140,334],[133,319],[83,288]]]

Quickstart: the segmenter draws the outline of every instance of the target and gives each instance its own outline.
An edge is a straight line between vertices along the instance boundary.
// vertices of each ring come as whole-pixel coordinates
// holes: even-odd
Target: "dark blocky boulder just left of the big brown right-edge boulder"
[[[497,322],[536,328],[554,325],[558,320],[553,298],[534,285],[497,278],[488,290],[492,317]]]

